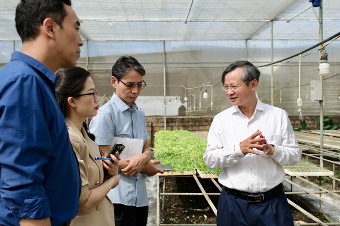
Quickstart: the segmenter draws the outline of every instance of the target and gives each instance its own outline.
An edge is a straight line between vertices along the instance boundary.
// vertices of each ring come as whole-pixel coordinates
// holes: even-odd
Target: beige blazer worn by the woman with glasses
[[[91,189],[103,183],[104,173],[101,161],[94,160],[100,157],[97,143],[93,142],[83,127],[77,129],[72,121],[65,118],[69,139],[73,151],[79,162],[79,171],[82,182],[79,206],[87,202]],[[78,213],[71,221],[70,226],[114,226],[114,210],[110,199],[105,198],[85,213]]]

